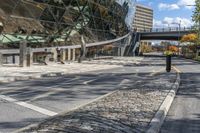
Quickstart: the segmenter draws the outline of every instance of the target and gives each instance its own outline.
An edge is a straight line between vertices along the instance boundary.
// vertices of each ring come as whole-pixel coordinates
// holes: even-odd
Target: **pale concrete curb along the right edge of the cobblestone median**
[[[169,91],[168,95],[166,96],[165,100],[161,104],[160,108],[156,112],[154,118],[151,120],[149,124],[149,129],[146,133],[158,133],[160,128],[165,120],[165,117],[172,105],[172,102],[176,96],[176,93],[180,86],[180,72],[177,69],[173,68],[177,73],[176,82],[173,84],[172,89]]]

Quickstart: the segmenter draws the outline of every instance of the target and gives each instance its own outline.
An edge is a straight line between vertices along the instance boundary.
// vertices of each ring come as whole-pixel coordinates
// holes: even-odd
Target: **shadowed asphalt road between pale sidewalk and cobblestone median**
[[[0,132],[69,111],[163,69],[164,59],[146,58],[139,66],[0,84]]]

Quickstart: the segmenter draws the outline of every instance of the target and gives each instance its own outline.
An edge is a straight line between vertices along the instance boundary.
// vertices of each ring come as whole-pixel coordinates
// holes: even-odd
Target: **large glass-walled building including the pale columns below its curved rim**
[[[75,60],[86,44],[100,49],[97,45],[127,42],[135,5],[136,0],[1,0],[0,50],[30,47],[20,53],[40,62]],[[3,56],[15,60],[19,50]]]

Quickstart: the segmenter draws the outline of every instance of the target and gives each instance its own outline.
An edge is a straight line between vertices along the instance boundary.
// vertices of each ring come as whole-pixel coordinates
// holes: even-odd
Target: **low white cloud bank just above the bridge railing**
[[[194,23],[187,18],[181,17],[165,17],[163,20],[154,20],[154,27],[178,27],[178,24],[181,24],[181,27],[191,27]]]

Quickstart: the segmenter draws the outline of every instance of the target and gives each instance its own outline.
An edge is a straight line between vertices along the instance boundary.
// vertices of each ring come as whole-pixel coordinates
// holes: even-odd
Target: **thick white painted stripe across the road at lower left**
[[[39,113],[47,115],[47,116],[54,116],[54,115],[58,114],[56,112],[53,112],[53,111],[50,111],[50,110],[47,110],[47,109],[44,109],[44,108],[41,108],[41,107],[38,107],[38,106],[35,106],[35,105],[32,105],[32,104],[29,104],[29,103],[26,103],[26,102],[18,101],[14,98],[11,98],[11,97],[8,97],[8,96],[5,96],[5,95],[0,95],[0,99],[6,100],[6,101],[11,102],[11,103],[15,103],[17,105],[20,105],[20,106],[23,106],[25,108],[34,110],[36,112],[39,112]]]

